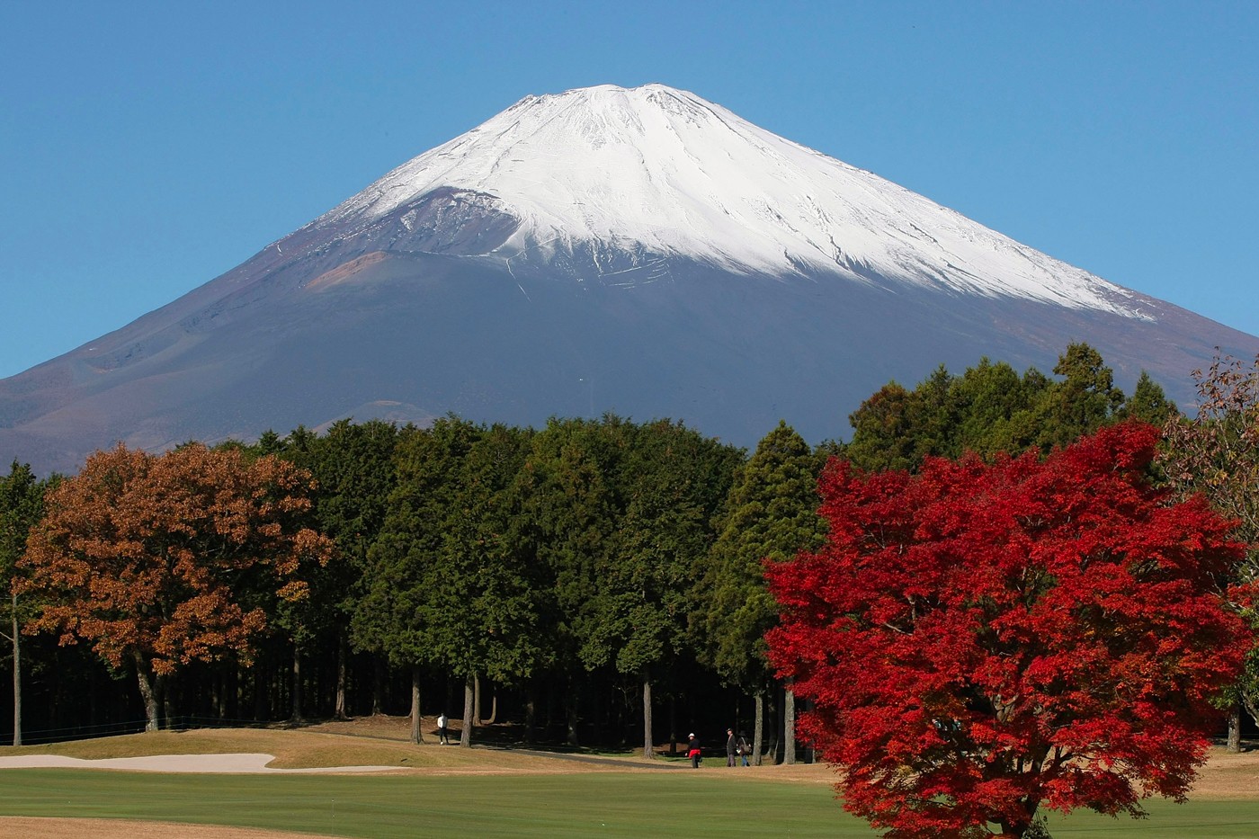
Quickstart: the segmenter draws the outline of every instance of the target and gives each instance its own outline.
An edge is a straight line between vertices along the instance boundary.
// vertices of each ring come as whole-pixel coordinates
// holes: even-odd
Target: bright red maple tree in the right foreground
[[[849,811],[886,836],[1047,835],[1040,808],[1183,800],[1251,644],[1221,591],[1241,545],[1147,479],[1158,431],[1040,461],[832,461],[830,539],[767,563],[779,675]]]

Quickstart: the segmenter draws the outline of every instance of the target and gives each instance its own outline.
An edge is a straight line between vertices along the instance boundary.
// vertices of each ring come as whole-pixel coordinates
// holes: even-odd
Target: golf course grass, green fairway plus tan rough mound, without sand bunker
[[[726,770],[718,758],[696,772],[682,768],[685,761],[645,765],[628,752],[592,761],[528,750],[412,745],[409,731],[407,718],[365,717],[297,729],[152,732],[0,747],[0,756],[210,758],[249,752],[274,755],[272,767],[405,768],[380,775],[4,768],[0,816],[174,821],[373,839],[879,835],[844,813],[830,786],[833,777],[823,766]],[[1147,801],[1151,815],[1139,821],[1092,813],[1050,814],[1050,830],[1055,839],[1259,836],[1259,752],[1217,750],[1196,789],[1201,797],[1186,805]],[[39,829],[45,826],[52,829]],[[101,830],[67,821],[57,834],[38,835],[77,836],[93,829]],[[121,826],[112,835],[135,839],[131,831],[136,829]]]

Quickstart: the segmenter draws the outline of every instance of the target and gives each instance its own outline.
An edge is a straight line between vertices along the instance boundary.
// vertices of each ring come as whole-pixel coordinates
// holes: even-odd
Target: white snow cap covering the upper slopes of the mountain
[[[526,97],[310,228],[353,236],[439,188],[494,195],[521,220],[504,256],[596,241],[738,273],[838,273],[1148,317],[1119,286],[662,84]]]

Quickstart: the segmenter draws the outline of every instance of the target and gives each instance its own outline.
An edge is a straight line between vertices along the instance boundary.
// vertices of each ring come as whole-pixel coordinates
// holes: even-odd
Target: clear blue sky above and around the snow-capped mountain
[[[0,377],[529,93],[647,82],[1259,334],[1259,3],[0,0]]]

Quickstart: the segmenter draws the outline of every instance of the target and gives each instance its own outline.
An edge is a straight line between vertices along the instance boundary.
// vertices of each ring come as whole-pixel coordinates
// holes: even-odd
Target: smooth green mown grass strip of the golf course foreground
[[[1053,816],[1055,839],[1259,835],[1259,801],[1148,804],[1149,819]],[[826,836],[870,839],[830,787],[713,773],[160,775],[4,770],[0,815],[229,824],[335,836]]]

